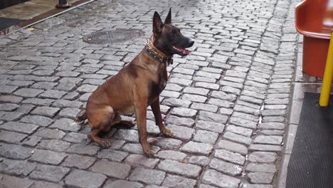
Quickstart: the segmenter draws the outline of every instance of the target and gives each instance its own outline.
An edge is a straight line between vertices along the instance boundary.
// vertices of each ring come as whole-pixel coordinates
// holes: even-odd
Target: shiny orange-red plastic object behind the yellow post
[[[304,35],[303,72],[323,77],[333,25],[333,0],[305,0],[295,8],[295,23]]]

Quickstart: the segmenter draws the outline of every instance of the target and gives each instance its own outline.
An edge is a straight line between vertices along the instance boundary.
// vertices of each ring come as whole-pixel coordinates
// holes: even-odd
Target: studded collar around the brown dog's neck
[[[150,38],[147,41],[147,45],[144,46],[144,49],[146,50],[149,56],[156,59],[160,63],[168,63],[168,65],[174,63],[172,56],[167,56],[154,46],[154,44],[152,43],[152,38]]]

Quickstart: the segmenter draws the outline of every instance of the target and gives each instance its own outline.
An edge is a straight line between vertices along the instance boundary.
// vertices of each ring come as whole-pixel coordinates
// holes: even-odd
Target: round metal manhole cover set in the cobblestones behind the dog
[[[143,32],[139,29],[116,29],[115,31],[97,31],[83,37],[86,43],[119,43],[131,38],[142,36]]]

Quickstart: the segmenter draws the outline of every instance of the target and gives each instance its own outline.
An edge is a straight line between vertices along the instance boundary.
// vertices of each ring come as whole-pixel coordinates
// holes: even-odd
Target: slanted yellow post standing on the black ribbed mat
[[[333,27],[331,29],[331,40],[329,41],[329,50],[327,53],[326,66],[324,71],[324,79],[322,80],[322,92],[320,93],[319,105],[327,107],[329,103],[329,93],[331,93],[331,85],[333,78]]]

